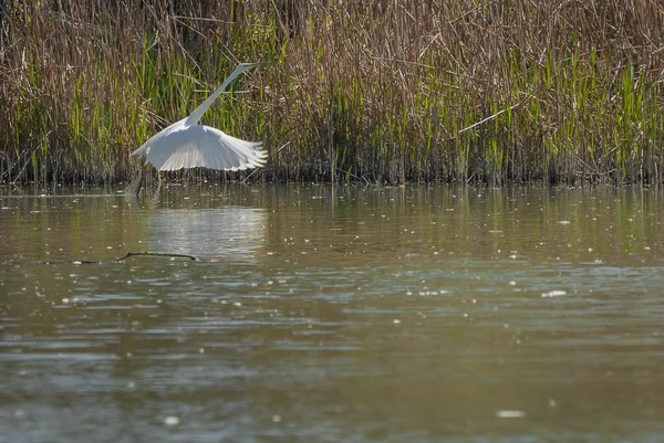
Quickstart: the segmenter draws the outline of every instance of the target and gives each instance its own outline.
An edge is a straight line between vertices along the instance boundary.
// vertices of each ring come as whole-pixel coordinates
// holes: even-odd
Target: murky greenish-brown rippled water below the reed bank
[[[0,191],[2,442],[664,441],[662,190]]]

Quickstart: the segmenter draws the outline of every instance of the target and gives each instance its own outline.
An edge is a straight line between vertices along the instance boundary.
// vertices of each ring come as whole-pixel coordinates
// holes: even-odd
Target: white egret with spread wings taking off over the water
[[[145,156],[145,161],[152,164],[159,171],[174,171],[183,168],[237,171],[264,166],[268,152],[261,149],[262,143],[241,140],[198,123],[203,114],[230,82],[257,64],[240,63],[221,86],[188,117],[155,134],[142,147],[133,151],[132,156]],[[137,184],[138,189],[133,193],[138,193],[142,183]]]

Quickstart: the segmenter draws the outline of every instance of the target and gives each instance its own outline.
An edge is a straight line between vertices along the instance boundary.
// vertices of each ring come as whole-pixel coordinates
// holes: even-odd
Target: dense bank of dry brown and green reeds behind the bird
[[[205,122],[266,141],[252,179],[663,180],[657,2],[6,3],[3,181],[125,179],[237,61]]]

